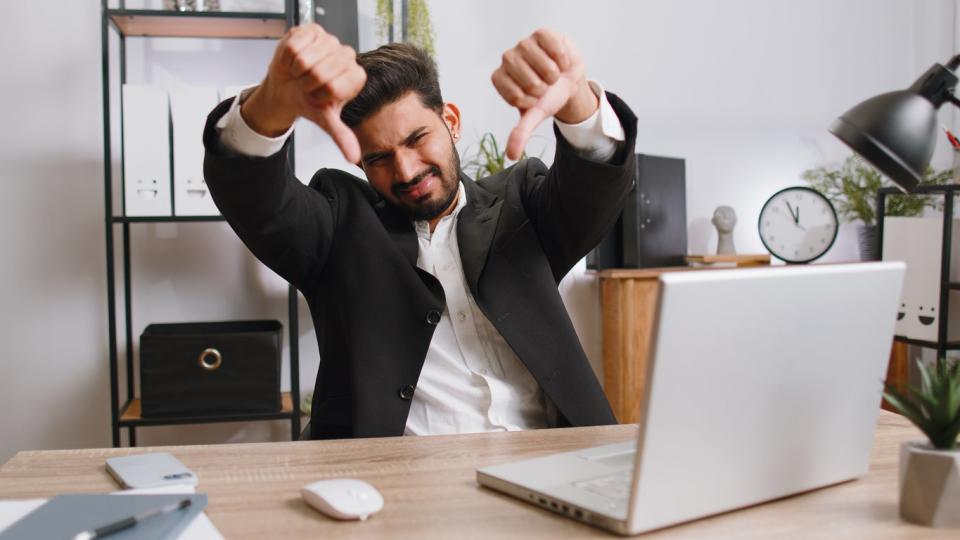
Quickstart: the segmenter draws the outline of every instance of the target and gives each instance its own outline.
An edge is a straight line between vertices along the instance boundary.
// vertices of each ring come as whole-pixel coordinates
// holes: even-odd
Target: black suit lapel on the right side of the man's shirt
[[[460,181],[467,194],[467,205],[457,219],[457,242],[460,244],[463,274],[470,292],[476,298],[480,274],[486,265],[493,235],[500,221],[503,200],[478,186],[463,173],[460,174]]]

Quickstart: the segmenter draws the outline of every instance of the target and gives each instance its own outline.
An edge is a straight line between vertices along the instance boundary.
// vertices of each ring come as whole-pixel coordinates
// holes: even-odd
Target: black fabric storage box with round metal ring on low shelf
[[[144,418],[280,410],[279,321],[151,324],[140,336]]]

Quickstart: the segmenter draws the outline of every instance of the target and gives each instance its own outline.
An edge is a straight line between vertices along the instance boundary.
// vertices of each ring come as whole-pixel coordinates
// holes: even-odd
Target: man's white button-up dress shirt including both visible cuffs
[[[603,93],[599,109],[578,124],[558,120],[563,137],[584,157],[606,161],[613,157],[624,130]],[[264,137],[253,131],[240,114],[240,103],[250,89],[234,99],[219,122],[220,140],[231,150],[267,157],[282,147],[293,131]],[[431,233],[426,221],[415,221],[419,241],[417,266],[443,286],[447,305],[434,329],[420,379],[410,403],[406,435],[437,435],[483,431],[515,431],[551,425],[556,414],[539,385],[477,306],[467,286],[457,240],[457,220],[467,204],[459,186],[453,212]]]

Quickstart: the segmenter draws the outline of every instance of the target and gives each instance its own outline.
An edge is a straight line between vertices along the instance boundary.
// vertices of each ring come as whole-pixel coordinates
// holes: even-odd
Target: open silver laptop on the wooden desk
[[[904,271],[663,274],[637,439],[484,467],[477,481],[633,535],[862,476]]]

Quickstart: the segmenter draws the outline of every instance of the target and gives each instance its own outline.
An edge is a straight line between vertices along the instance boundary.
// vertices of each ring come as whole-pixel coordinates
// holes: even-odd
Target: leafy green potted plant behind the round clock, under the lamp
[[[921,185],[950,183],[953,171],[936,172],[927,169]],[[877,257],[877,190],[893,186],[879,171],[855,155],[847,157],[839,168],[817,167],[805,171],[801,177],[810,187],[823,193],[837,209],[840,219],[846,222],[860,221],[857,240],[860,258],[865,261]],[[927,207],[933,207],[936,199],[924,195],[891,195],[887,197],[886,215],[916,217]]]

